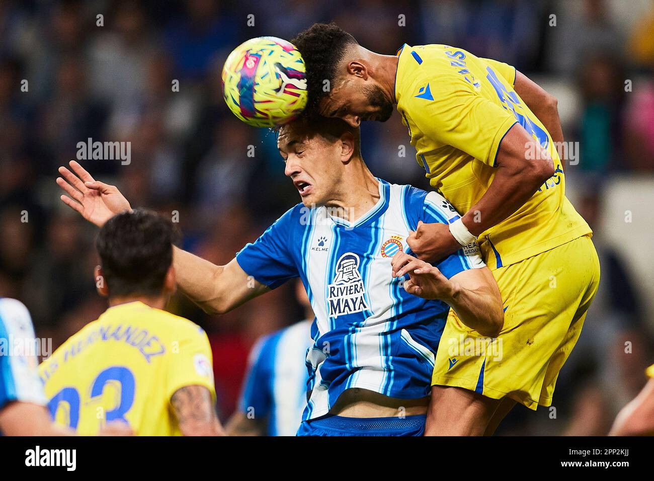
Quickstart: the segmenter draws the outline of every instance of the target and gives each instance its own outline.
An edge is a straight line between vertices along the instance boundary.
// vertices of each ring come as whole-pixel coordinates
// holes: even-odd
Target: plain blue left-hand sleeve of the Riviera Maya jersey
[[[291,251],[300,243],[293,235],[295,209],[287,211],[254,243],[247,244],[236,255],[241,269],[270,289],[299,275]]]

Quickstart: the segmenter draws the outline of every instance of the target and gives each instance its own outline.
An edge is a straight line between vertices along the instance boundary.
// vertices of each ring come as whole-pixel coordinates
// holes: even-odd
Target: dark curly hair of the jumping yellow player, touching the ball
[[[313,24],[290,41],[300,51],[307,68],[307,111],[316,111],[320,99],[328,96],[324,81],[330,87],[336,77],[336,66],[343,60],[349,45],[358,45],[356,39],[341,27],[331,24]]]

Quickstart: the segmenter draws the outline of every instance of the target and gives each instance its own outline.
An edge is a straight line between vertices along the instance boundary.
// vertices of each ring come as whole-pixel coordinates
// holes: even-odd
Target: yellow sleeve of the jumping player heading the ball
[[[430,86],[430,94],[438,94],[406,96],[402,110],[426,137],[495,166],[502,139],[517,122],[515,116],[483,97],[461,75],[429,80],[422,83]],[[420,79],[416,81],[415,90]]]

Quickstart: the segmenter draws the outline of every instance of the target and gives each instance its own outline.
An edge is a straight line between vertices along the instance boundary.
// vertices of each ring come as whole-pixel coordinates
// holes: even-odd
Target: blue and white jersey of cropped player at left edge
[[[11,401],[45,405],[32,319],[16,299],[0,298],[0,410]]]

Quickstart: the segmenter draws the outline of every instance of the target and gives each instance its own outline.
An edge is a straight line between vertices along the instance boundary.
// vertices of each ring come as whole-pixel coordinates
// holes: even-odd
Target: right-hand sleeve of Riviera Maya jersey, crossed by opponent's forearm
[[[441,196],[438,192],[432,191],[425,196],[421,219],[422,222],[426,224],[451,224],[459,218],[460,215],[454,206],[447,202],[447,199]],[[434,265],[443,273],[443,276],[450,279],[451,277],[456,276],[459,272],[468,269],[479,269],[484,267],[486,264],[481,259],[479,245],[477,245],[476,241],[472,241],[468,245],[461,247],[461,249],[455,253],[441,260],[441,262],[438,262],[438,264]]]

